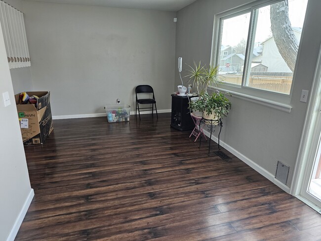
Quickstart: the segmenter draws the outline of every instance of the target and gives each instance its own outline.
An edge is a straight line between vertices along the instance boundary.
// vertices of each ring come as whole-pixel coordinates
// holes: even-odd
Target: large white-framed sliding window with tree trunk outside
[[[289,95],[307,1],[260,0],[218,16],[215,59],[223,81]]]

